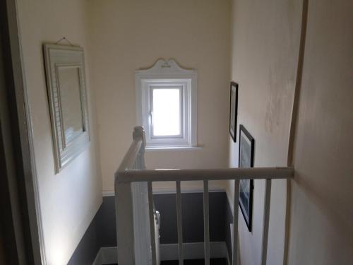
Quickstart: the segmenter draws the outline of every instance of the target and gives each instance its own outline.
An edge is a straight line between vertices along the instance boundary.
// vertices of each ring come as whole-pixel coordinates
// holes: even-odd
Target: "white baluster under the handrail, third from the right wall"
[[[203,181],[203,237],[205,238],[205,265],[210,265],[210,204],[208,180]]]

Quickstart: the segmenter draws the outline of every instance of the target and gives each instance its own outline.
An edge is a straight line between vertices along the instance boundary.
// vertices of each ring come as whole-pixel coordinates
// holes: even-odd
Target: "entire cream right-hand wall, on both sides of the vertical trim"
[[[239,82],[240,124],[256,140],[255,166],[287,164],[301,4],[233,1],[232,79]],[[309,0],[294,144],[293,265],[353,262],[352,10],[352,1]],[[237,166],[237,154],[231,142],[230,166]],[[256,181],[253,232],[239,212],[242,265],[260,263],[263,195]],[[273,182],[269,264],[282,264],[285,200],[285,183]]]

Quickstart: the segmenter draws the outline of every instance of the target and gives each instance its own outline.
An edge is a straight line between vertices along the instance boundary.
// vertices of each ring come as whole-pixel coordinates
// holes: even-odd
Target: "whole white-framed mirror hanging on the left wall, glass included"
[[[45,44],[55,173],[90,143],[83,48]]]

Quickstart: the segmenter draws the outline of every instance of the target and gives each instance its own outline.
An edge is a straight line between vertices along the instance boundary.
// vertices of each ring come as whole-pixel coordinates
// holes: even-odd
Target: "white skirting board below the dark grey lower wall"
[[[203,242],[184,243],[184,259],[203,259]],[[210,242],[210,257],[225,258],[229,264],[229,255],[225,242]],[[160,260],[177,260],[178,245],[160,245]],[[101,247],[92,265],[114,264],[118,262],[116,247]]]

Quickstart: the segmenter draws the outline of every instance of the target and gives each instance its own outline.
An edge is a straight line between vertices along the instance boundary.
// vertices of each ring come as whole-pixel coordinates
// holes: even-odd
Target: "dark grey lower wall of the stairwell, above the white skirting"
[[[153,195],[155,208],[160,211],[160,244],[178,242],[177,237],[177,204],[175,194]],[[203,242],[203,193],[181,194],[181,211],[183,218],[183,241]],[[225,192],[210,192],[210,241],[227,244],[229,255],[232,255],[229,224],[233,216]],[[114,196],[103,197],[102,205],[97,211],[88,230],[80,241],[69,265],[92,264],[100,247],[116,246]]]

